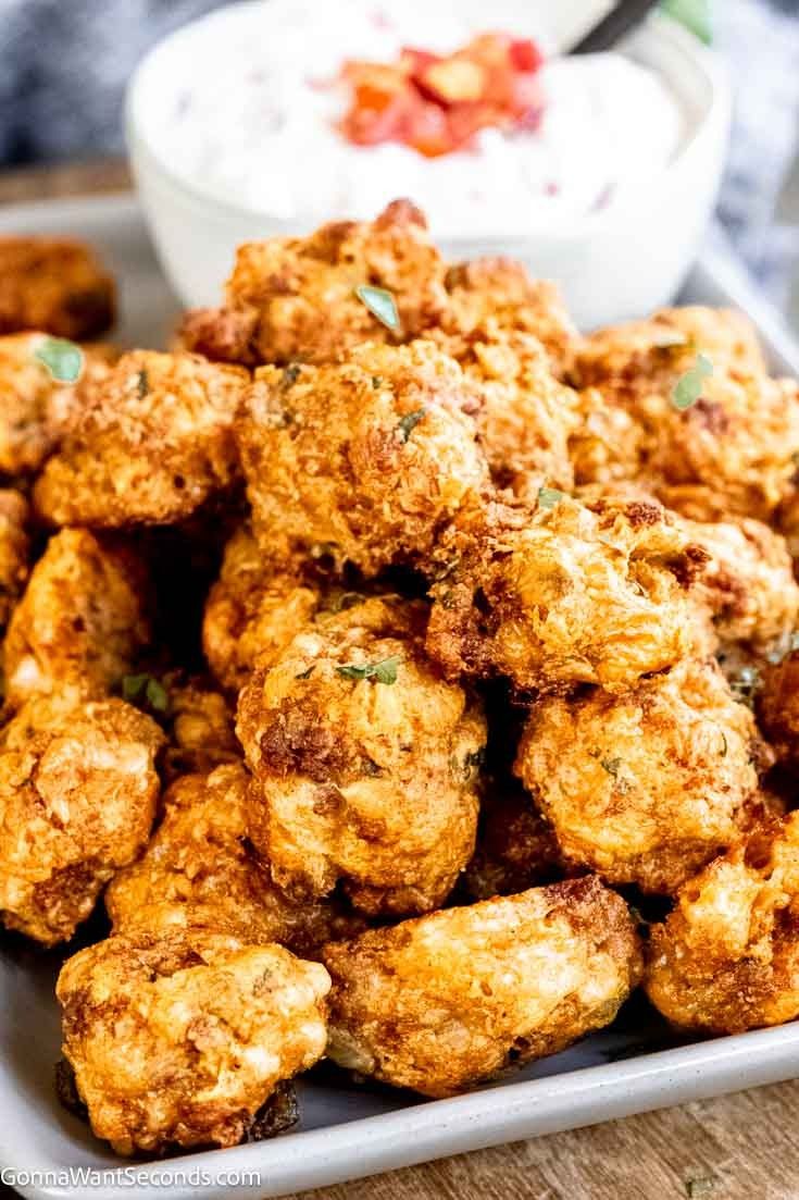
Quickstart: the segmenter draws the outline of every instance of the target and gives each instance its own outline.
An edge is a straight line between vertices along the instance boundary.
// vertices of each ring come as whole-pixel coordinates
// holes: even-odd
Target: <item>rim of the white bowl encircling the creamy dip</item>
[[[196,30],[202,25],[216,24],[227,13],[234,10],[250,8],[259,2],[263,2],[263,0],[235,0],[235,2],[224,5],[222,8],[215,8],[198,17],[196,20],[187,22],[174,29],[146,52],[134,67],[125,90],[125,139],[133,173],[137,176],[137,184],[139,175],[138,163],[144,161],[151,172],[161,176],[162,184],[170,187],[173,192],[180,193],[184,199],[191,200],[193,206],[204,209],[209,216],[250,221],[253,223],[258,221],[269,222],[271,227],[270,236],[298,236],[307,233],[308,224],[318,220],[318,217],[313,214],[278,217],[265,209],[253,208],[247,204],[236,204],[234,200],[212,196],[210,192],[204,191],[200,185],[174,170],[154,149],[150,139],[142,132],[139,115],[143,104],[142,96],[148,84],[148,74],[154,70],[154,62],[167,55],[170,48],[180,43],[188,30]],[[665,164],[662,170],[654,176],[655,179],[673,178],[684,169],[686,161],[690,162],[693,158],[697,144],[708,140],[714,131],[719,131],[720,134],[726,136],[732,114],[732,85],[729,76],[717,54],[666,13],[651,12],[639,29],[636,30],[633,37],[644,37],[655,43],[665,42],[671,44],[673,49],[683,54],[695,73],[703,77],[708,89],[709,100],[704,113],[699,120],[695,121],[685,131],[677,152]],[[583,236],[618,227],[627,217],[629,206],[619,205],[617,208],[609,205],[601,211],[587,212],[576,220],[570,220],[565,226],[553,224],[547,227],[546,224],[540,224],[531,227],[529,230],[511,234],[474,230],[468,234],[449,235],[445,240],[455,244],[463,242],[464,245],[480,241],[486,246],[492,246],[493,244],[507,246],[509,242],[525,244],[535,239],[573,242]],[[335,218],[331,217],[330,220]]]

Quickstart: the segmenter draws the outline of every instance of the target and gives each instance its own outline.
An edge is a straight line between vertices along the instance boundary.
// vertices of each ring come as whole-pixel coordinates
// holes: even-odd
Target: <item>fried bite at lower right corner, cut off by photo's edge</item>
[[[653,925],[644,986],[674,1025],[740,1033],[799,1015],[799,814],[689,880]]]

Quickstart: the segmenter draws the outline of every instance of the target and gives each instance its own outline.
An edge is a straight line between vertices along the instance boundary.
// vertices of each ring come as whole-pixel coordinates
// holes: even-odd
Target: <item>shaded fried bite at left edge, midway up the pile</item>
[[[88,529],[48,542],[14,608],[2,661],[6,700],[73,688],[101,697],[131,670],[150,636],[143,564]]]

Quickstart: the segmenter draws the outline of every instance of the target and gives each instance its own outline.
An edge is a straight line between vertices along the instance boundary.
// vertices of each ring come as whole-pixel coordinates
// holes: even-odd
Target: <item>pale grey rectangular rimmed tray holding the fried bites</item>
[[[4,229],[86,238],[121,281],[120,340],[167,341],[178,306],[134,200],[5,208]],[[774,370],[799,373],[787,332],[726,265],[703,260],[683,299],[746,308]],[[799,1074],[799,1024],[687,1045],[636,997],[611,1028],[468,1096],[423,1102],[322,1072],[299,1085],[300,1126],[274,1141],[125,1164],[55,1098],[61,958],[0,935],[0,1178],[35,1200],[277,1196]]]

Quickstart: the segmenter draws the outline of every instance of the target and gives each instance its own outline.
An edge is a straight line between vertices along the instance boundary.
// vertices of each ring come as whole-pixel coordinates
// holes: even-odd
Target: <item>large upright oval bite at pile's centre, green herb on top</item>
[[[421,606],[366,600],[242,689],[250,836],[286,890],[342,881],[364,912],[426,912],[471,857],[485,721],[427,662],[422,628]]]

